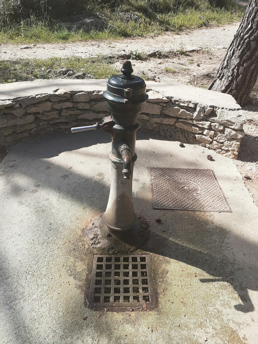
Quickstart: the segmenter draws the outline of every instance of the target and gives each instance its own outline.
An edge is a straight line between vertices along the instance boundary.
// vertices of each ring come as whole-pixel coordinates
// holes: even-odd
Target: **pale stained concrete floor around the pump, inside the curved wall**
[[[85,307],[94,252],[84,230],[106,208],[110,141],[105,132],[46,136],[13,146],[0,164],[1,343],[257,343],[258,212],[234,161],[139,132],[133,195],[150,222],[141,252],[159,307]],[[152,209],[148,166],[212,169],[233,212]]]

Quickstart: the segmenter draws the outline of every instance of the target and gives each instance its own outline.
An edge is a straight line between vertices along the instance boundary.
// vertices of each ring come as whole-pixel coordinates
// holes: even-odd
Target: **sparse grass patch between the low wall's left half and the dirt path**
[[[76,73],[86,73],[89,78],[106,79],[119,74],[111,65],[108,57],[52,57],[47,59],[0,61],[0,83],[28,81],[34,79],[52,79],[60,77],[57,70],[72,68]]]

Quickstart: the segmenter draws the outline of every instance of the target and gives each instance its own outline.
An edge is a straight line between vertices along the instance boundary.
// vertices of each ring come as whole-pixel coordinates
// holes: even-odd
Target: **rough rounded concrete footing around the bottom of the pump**
[[[85,231],[90,247],[107,254],[127,254],[147,243],[150,226],[144,217],[138,216],[136,225],[124,232],[108,230],[102,217],[103,214],[95,218]]]

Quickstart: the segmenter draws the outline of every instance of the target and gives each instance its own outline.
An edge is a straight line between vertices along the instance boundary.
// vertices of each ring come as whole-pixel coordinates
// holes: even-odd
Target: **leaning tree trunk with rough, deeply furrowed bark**
[[[208,89],[231,94],[247,103],[258,77],[258,0],[249,0],[246,13]]]

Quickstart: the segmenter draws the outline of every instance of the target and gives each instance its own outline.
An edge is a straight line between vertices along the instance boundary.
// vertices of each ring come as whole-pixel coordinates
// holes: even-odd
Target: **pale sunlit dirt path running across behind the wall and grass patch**
[[[135,37],[116,41],[85,41],[75,43],[55,43],[28,45],[30,49],[21,49],[16,44],[0,45],[0,60],[17,60],[21,58],[48,58],[81,56],[90,57],[100,54],[116,55],[121,51],[149,53],[153,50],[178,50],[183,45],[184,49],[191,47],[209,47],[212,50],[227,48],[232,41],[239,23],[224,26],[201,28],[194,31],[183,31],[179,35],[167,32],[158,37]],[[218,48],[219,47],[219,48]]]

